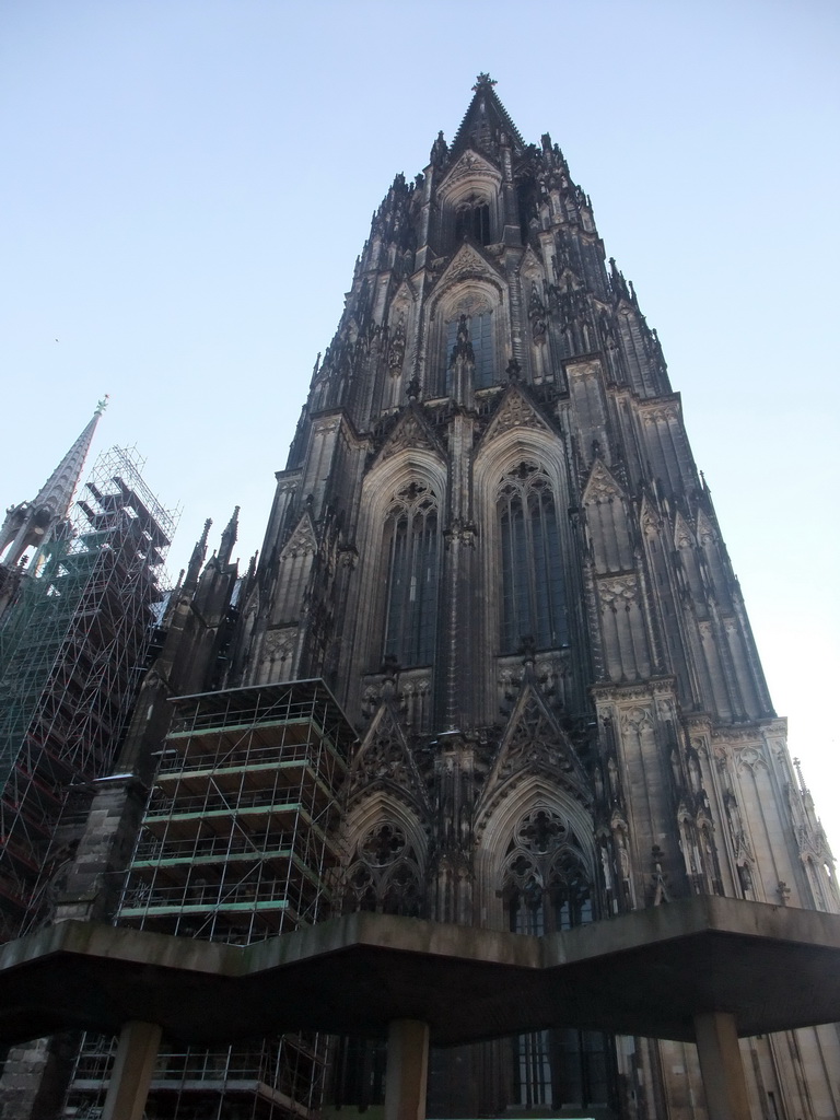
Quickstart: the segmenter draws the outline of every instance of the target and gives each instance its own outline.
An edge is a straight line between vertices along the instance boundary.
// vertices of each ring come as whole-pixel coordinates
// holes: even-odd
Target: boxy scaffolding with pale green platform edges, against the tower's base
[[[338,793],[353,729],[319,680],[183,697],[118,922],[250,944],[330,916]],[[113,1042],[88,1037],[66,1117],[96,1117]],[[161,1048],[148,1120],[306,1120],[320,1103],[325,1040],[284,1035]]]

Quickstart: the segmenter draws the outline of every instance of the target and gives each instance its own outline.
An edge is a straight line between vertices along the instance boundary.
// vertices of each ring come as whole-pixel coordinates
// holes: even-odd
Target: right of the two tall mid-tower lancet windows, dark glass
[[[568,642],[566,594],[554,495],[548,475],[521,463],[502,479],[497,510],[502,545],[502,652],[523,638],[538,650]]]

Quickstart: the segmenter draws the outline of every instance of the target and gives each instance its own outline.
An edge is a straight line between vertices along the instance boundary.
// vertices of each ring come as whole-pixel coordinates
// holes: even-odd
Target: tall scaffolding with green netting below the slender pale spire
[[[146,666],[174,530],[112,448],[0,628],[0,941],[43,923],[69,866],[69,791],[111,769]]]

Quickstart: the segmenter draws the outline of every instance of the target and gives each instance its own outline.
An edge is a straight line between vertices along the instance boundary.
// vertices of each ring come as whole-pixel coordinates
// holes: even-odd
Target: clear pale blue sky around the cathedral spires
[[[1,0],[0,502],[108,392],[95,450],[183,505],[170,568],[237,504],[245,561],[371,213],[488,71],[659,329],[840,855],[839,32],[836,0]]]

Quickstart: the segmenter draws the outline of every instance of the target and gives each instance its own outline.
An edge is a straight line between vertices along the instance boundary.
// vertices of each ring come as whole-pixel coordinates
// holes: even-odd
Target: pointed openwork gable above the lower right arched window
[[[568,736],[536,687],[526,682],[498,745],[476,819],[534,774],[563,786],[585,804],[591,801],[589,777]]]

